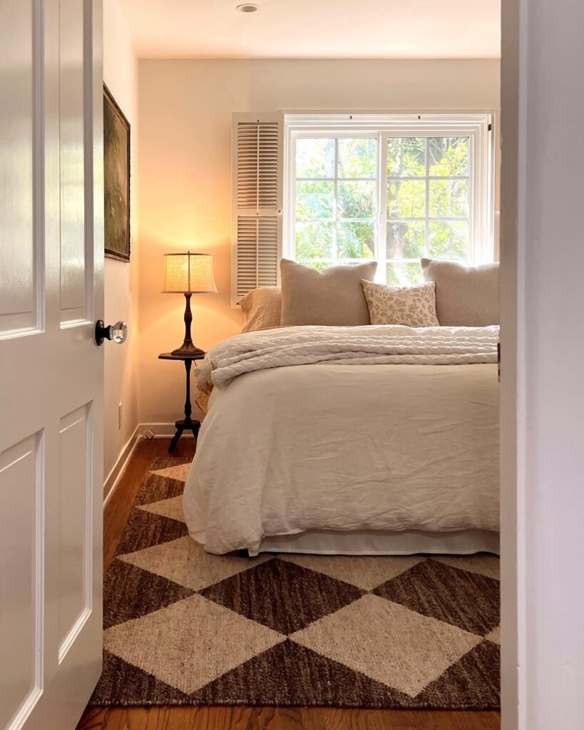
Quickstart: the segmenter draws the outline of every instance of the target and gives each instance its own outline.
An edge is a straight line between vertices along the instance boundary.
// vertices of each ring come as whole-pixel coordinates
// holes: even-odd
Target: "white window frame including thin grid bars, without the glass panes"
[[[413,263],[418,258],[391,259],[387,257],[388,223],[425,223],[425,250],[429,247],[429,226],[437,221],[453,223],[468,220],[469,246],[467,261],[471,265],[488,263],[494,258],[493,226],[493,145],[489,134],[491,115],[286,115],[285,117],[285,204],[283,253],[296,258],[296,220],[298,222],[332,223],[336,218],[296,219],[296,182],[334,182],[334,199],[337,186],[342,180],[371,181],[373,178],[296,178],[296,141],[300,138],[373,138],[377,139],[377,220],[374,226],[375,251],[378,262],[377,280],[385,282],[388,262]],[[426,175],[394,177],[387,174],[388,139],[390,137],[469,137],[469,171],[464,176],[439,176],[429,174],[426,149]],[[428,142],[426,142],[426,147]],[[338,142],[335,143],[335,176],[337,175]],[[388,216],[388,184],[393,180],[423,180],[426,183],[425,215],[419,218],[390,218]],[[429,215],[429,188],[431,180],[461,180],[469,184],[468,217],[435,217]],[[372,218],[347,219],[348,222],[371,222]],[[344,221],[343,221],[344,222]],[[300,259],[299,259],[300,260]],[[363,259],[355,259],[362,261]],[[309,261],[302,258],[301,261]],[[334,227],[334,259],[312,259],[314,262],[337,262],[336,226]],[[350,261],[343,259],[343,261]]]

